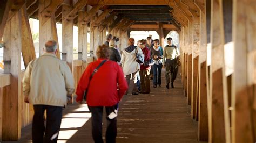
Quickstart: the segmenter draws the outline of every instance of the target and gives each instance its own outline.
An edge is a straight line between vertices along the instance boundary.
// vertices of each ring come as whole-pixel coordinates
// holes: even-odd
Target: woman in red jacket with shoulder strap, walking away
[[[84,91],[88,88],[86,101],[92,113],[93,140],[103,142],[102,113],[105,106],[107,115],[106,142],[116,142],[117,104],[128,89],[128,85],[117,62],[107,60],[109,58],[109,48],[99,46],[96,54],[98,60],[88,65],[78,82],[76,101],[82,103]],[[93,70],[104,60],[106,62],[93,75],[89,86],[89,78]]]

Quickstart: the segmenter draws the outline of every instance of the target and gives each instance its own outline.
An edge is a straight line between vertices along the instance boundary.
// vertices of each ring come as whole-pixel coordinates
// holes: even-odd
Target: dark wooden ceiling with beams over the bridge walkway
[[[52,0],[53,1],[53,0]],[[56,1],[56,0],[55,0]],[[58,0],[60,1],[60,0]],[[173,8],[171,8],[169,5],[166,5],[163,1],[151,1],[147,0],[146,5],[143,4],[141,1],[114,1],[114,0],[62,0],[62,4],[67,3],[74,3],[73,7],[76,6],[76,4],[83,4],[80,7],[82,7],[82,10],[87,10],[87,12],[90,11],[90,9],[93,8],[93,6],[100,5],[100,8],[98,10],[99,13],[102,13],[105,11],[105,15],[103,19],[100,19],[104,22],[104,19],[106,20],[110,16],[112,16],[112,23],[110,24],[110,28],[113,28],[116,26],[119,22],[123,20],[123,24],[132,22],[134,24],[172,24],[177,29],[180,29],[181,25],[177,22],[176,19],[173,18],[171,11]],[[82,2],[83,1],[83,2]],[[80,2],[80,3],[79,3]],[[38,0],[27,0],[26,1],[26,8],[29,17],[38,19]],[[62,21],[62,4],[58,5],[55,11],[55,17],[56,22],[61,23]],[[80,10],[78,10],[80,11]],[[75,11],[77,12],[77,11]],[[93,13],[93,15],[96,15],[96,13]],[[114,16],[113,16],[114,15]],[[77,24],[77,14],[74,15],[74,24]],[[100,16],[100,15],[99,15]],[[87,19],[89,20],[89,19]],[[125,22],[124,22],[125,20]]]

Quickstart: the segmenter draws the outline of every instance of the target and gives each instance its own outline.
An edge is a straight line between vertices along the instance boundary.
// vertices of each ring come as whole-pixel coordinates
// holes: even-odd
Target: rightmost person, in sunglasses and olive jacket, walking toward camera
[[[171,78],[171,87],[174,88],[173,82],[176,79],[178,73],[178,58],[179,58],[179,49],[172,44],[172,38],[167,38],[167,44],[164,48],[164,58],[163,65],[165,67],[165,80],[166,88],[169,89],[170,78]]]

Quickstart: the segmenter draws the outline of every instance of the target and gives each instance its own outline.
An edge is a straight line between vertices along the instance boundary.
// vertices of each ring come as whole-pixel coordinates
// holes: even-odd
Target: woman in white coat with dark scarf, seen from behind
[[[132,80],[132,95],[138,95],[138,89],[136,86],[137,77],[139,74],[140,65],[136,62],[136,49],[139,55],[142,56],[144,60],[144,55],[142,53],[142,49],[138,46],[134,46],[134,39],[129,38],[129,47],[125,48],[121,57],[121,64],[124,71],[125,79],[127,81],[128,86],[130,85],[130,80]],[[130,87],[129,87],[130,88]],[[126,95],[128,94],[128,90],[126,91]]]

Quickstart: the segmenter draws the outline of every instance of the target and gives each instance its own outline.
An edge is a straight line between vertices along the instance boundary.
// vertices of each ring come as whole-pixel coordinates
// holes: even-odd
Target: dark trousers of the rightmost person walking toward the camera
[[[165,80],[166,80],[166,84],[170,83],[170,78],[171,79],[171,83],[174,82],[174,80],[176,79],[177,73],[178,73],[178,65],[177,65],[177,60],[173,59],[166,59],[165,61]]]

